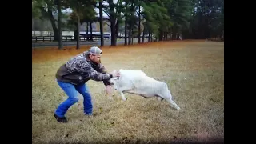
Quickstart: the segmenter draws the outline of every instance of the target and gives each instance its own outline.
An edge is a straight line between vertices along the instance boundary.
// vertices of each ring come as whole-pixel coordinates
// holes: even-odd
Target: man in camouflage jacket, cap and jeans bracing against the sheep
[[[88,80],[103,81],[107,92],[109,92],[110,85],[108,80],[120,76],[119,71],[116,70],[110,74],[106,73],[106,69],[100,61],[101,55],[102,50],[97,46],[93,46],[82,54],[71,58],[58,69],[56,74],[58,85],[68,96],[66,101],[62,102],[54,113],[54,117],[58,122],[67,122],[66,111],[74,103],[78,102],[78,93],[83,96],[84,114],[92,115],[91,96],[86,86]]]

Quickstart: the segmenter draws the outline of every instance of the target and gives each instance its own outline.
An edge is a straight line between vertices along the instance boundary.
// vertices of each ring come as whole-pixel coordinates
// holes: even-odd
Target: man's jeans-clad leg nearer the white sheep
[[[91,115],[93,113],[93,104],[91,102],[91,96],[89,89],[86,84],[75,86],[76,90],[83,96],[83,110],[86,115]]]

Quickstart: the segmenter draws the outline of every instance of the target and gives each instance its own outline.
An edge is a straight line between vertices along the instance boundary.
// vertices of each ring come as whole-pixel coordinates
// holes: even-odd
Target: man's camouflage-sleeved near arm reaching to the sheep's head
[[[94,81],[104,81],[112,78],[111,74],[103,74],[94,70],[94,68],[92,68],[92,66],[90,66],[90,64],[87,62],[83,62],[81,64],[81,67],[80,69],[78,69],[78,72],[80,72],[84,77],[90,78]]]

